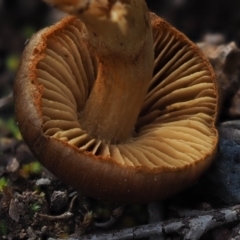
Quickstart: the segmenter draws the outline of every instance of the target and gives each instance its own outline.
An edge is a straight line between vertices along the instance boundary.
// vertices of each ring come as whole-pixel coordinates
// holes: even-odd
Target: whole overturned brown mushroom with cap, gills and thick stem
[[[36,158],[87,196],[117,202],[193,184],[218,143],[218,86],[199,48],[144,0],[48,2],[73,15],[31,38],[14,86]]]

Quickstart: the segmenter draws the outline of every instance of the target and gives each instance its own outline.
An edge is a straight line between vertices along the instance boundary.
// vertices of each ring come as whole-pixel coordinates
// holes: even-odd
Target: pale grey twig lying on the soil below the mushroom
[[[134,228],[112,231],[107,234],[81,236],[81,240],[127,240],[141,239],[163,233],[178,233],[184,240],[198,240],[210,229],[240,220],[240,205],[206,211],[203,215],[192,218],[181,218],[166,222],[147,224]],[[70,240],[70,239],[69,239]],[[74,240],[71,238],[71,240]]]

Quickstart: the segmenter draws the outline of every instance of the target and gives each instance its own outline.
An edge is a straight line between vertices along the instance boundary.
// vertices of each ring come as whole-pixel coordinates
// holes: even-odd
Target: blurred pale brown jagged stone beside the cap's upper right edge
[[[198,43],[214,68],[222,95],[221,116],[240,117],[240,49],[235,42],[227,44]]]

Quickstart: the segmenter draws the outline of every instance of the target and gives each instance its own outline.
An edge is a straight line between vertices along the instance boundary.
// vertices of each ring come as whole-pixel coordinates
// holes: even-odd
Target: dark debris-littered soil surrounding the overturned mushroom
[[[199,46],[209,57],[223,89],[220,121],[239,119],[239,0],[147,3],[151,11],[194,42],[202,42]],[[34,32],[62,16],[40,0],[0,1],[0,239],[79,237],[148,223],[145,205],[101,202],[64,185],[37,162],[20,136],[14,121],[12,88],[24,44]],[[235,45],[229,45],[232,41]],[[169,210],[172,204],[188,209],[227,206],[222,199],[196,189],[167,200],[166,219],[176,217]],[[109,222],[112,216],[114,223]],[[202,239],[228,239],[233,227],[212,230]]]

